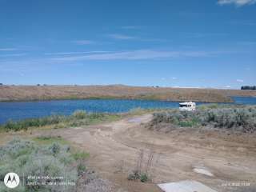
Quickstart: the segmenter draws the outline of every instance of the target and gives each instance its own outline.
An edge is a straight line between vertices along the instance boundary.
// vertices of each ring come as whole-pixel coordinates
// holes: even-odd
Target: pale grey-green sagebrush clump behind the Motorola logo
[[[17,173],[20,179],[23,180],[25,175],[25,184],[34,182],[32,176],[51,176],[51,177],[64,177],[56,178],[54,181],[49,178],[43,179],[44,182],[74,182],[78,181],[79,171],[85,170],[85,166],[81,163],[77,165],[73,154],[68,146],[60,146],[58,143],[50,145],[38,146],[35,142],[23,141],[15,139],[6,146],[0,147],[0,190],[8,191],[4,186],[3,179],[9,172]],[[12,191],[56,191],[67,192],[74,191],[75,186],[42,186],[35,185],[19,185]]]

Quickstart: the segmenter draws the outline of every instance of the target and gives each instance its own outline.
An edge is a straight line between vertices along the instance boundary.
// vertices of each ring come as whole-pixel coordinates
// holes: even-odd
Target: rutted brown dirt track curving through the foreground
[[[51,134],[62,135],[90,152],[90,167],[119,191],[160,191],[154,183],[185,179],[202,182],[219,192],[256,191],[255,135],[191,128],[159,134],[142,125],[150,118],[146,114],[101,126],[52,130]],[[154,151],[151,184],[126,179],[136,166],[140,150],[144,150],[145,162]],[[213,176],[198,174],[194,168],[208,170]],[[232,182],[250,183],[250,187],[225,186]]]

